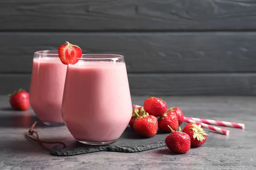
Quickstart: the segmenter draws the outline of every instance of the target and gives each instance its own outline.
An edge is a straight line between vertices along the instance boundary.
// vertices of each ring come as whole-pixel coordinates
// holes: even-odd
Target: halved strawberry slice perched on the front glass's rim
[[[66,44],[59,46],[58,55],[63,64],[76,64],[79,61],[77,58],[82,56],[82,50],[79,46],[66,41]]]

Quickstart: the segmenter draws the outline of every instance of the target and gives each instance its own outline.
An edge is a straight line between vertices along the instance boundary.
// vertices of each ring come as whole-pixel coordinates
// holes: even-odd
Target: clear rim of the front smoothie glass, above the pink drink
[[[102,57],[102,58],[88,58],[84,56],[108,56],[108,57]],[[81,60],[118,60],[118,59],[124,59],[124,56],[120,54],[82,54],[81,58],[74,57],[74,59],[81,59]]]

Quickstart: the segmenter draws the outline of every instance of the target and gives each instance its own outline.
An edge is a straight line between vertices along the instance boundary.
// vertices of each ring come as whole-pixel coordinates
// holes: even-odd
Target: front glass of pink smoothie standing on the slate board
[[[127,127],[132,113],[124,57],[83,54],[67,68],[62,118],[84,144],[109,144]]]

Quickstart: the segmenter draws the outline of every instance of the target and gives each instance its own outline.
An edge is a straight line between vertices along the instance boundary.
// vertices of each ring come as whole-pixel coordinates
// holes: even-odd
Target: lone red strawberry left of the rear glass
[[[29,103],[29,93],[23,89],[14,91],[13,94],[8,95],[10,97],[10,105],[13,109],[19,111],[26,111],[30,107]]]

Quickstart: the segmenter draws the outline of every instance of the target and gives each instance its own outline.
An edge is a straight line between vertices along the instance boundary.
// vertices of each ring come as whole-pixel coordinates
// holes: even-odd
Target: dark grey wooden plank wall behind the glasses
[[[256,95],[255,0],[0,0],[0,94],[65,40],[125,55],[133,95]]]

